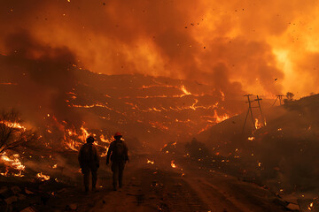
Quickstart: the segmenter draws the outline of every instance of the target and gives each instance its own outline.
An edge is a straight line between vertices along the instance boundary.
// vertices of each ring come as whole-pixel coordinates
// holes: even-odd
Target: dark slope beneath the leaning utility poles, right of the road
[[[315,198],[319,95],[266,110],[268,124],[242,133],[244,114],[198,135],[213,155],[237,158],[237,176],[276,193]],[[227,169],[225,169],[227,170]],[[308,197],[309,197],[308,196]]]

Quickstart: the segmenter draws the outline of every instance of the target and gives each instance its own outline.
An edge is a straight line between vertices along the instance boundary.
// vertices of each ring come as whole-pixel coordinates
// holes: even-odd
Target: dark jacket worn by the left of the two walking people
[[[93,143],[84,144],[79,151],[78,160],[81,168],[87,164],[95,164],[99,167],[99,155],[95,145]]]

